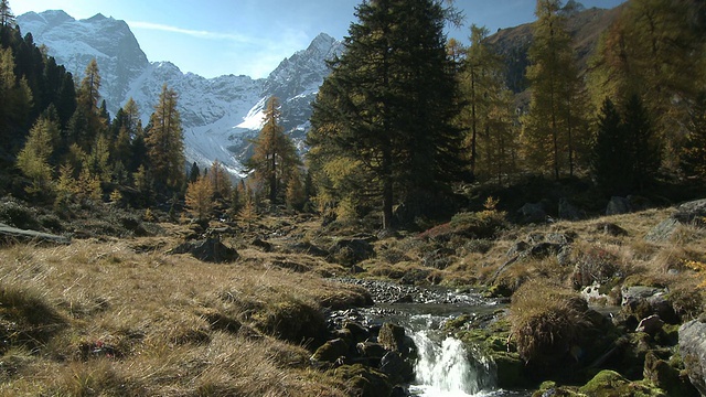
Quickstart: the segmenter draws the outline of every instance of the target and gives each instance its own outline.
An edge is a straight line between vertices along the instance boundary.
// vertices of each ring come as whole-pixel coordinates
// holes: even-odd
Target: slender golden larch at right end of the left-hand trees
[[[172,191],[181,189],[185,179],[184,138],[176,99],[176,93],[164,84],[145,132],[151,178],[158,187]]]

